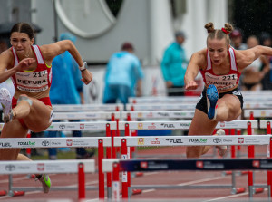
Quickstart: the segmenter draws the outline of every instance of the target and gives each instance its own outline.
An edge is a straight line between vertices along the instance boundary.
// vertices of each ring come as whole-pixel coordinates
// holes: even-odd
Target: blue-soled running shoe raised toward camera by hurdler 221
[[[216,106],[219,101],[219,92],[215,85],[209,85],[207,89],[207,108],[209,120],[215,120],[217,116]]]

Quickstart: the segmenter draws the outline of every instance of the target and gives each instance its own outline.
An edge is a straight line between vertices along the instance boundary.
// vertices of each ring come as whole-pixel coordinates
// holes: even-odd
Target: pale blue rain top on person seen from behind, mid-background
[[[131,88],[135,95],[134,87],[138,80],[143,78],[141,63],[131,53],[122,51],[113,53],[107,65],[105,85],[121,84]]]

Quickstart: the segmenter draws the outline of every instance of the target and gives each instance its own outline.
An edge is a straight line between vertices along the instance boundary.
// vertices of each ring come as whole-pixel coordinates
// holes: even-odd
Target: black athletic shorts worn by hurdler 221
[[[197,103],[197,106],[196,108],[199,110],[199,111],[203,111],[204,113],[208,114],[208,109],[207,109],[207,97],[206,97],[206,93],[207,92],[207,88],[204,87],[200,97],[199,97],[199,101]],[[241,102],[241,109],[243,110],[243,104],[244,104],[244,101],[243,101],[243,95],[241,93],[241,91],[238,90],[238,88],[232,90],[232,91],[226,91],[226,92],[222,92],[222,93],[219,93],[219,99],[222,98],[224,95],[226,94],[233,94],[235,95],[236,97],[238,97],[239,101]]]

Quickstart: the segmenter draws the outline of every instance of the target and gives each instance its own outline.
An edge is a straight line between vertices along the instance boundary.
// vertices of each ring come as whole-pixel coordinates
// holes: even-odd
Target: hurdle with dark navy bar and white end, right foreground
[[[203,137],[204,138],[204,137]],[[238,140],[238,139],[237,139]],[[271,140],[270,141],[271,145]],[[109,161],[103,159],[103,172],[114,171],[113,176],[121,172],[129,171],[169,171],[169,170],[267,170],[272,167],[272,159],[115,159]],[[119,164],[119,165],[117,165]],[[113,165],[113,166],[112,166]],[[120,168],[120,170],[118,170]],[[119,188],[119,187],[117,187]],[[161,188],[157,186],[156,188]],[[116,191],[117,192],[117,191]],[[252,189],[249,188],[248,197],[252,199]],[[270,197],[268,196],[270,199]],[[112,198],[113,201],[119,201],[118,198]],[[126,199],[126,198],[123,198]]]

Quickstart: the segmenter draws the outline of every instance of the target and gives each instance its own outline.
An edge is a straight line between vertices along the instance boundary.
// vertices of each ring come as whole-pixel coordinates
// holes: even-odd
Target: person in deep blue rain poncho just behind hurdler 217
[[[60,35],[60,41],[71,40],[73,43],[76,37],[70,33]],[[77,63],[69,52],[56,56],[52,62],[52,85],[50,89],[50,100],[52,104],[84,104],[83,82],[81,72]],[[70,120],[79,121],[79,120]],[[50,138],[57,137],[59,132],[49,131]],[[81,131],[73,130],[73,137],[82,137]],[[49,159],[57,159],[57,149],[48,149]],[[94,152],[87,152],[84,148],[76,149],[76,159],[91,158]]]

